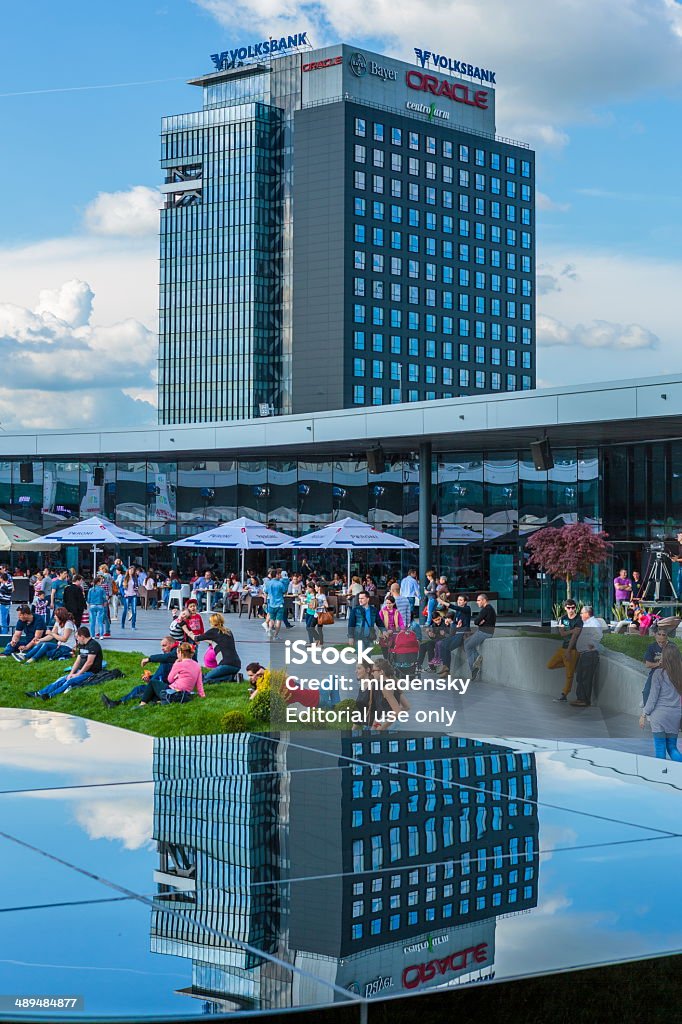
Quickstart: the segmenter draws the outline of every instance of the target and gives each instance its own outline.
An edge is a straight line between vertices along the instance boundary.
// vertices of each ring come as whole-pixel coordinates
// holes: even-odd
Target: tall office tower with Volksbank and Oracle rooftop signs
[[[535,387],[534,154],[494,73],[281,42],[163,120],[160,422]]]

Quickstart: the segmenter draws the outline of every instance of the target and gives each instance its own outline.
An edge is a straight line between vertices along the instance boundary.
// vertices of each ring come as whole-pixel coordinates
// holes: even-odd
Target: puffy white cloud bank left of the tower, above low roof
[[[156,336],[139,321],[90,323],[83,281],[44,290],[35,310],[0,303],[0,420],[5,429],[154,423],[123,388],[151,388]],[[58,392],[58,397],[50,392]]]

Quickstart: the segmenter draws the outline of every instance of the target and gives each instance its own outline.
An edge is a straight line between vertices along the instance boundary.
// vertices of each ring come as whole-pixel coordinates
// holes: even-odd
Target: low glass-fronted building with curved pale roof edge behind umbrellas
[[[545,435],[554,468],[538,470],[529,445]],[[420,544],[369,562],[358,553],[358,564],[403,571],[419,556],[455,589],[497,592],[504,612],[540,610],[528,534],[584,520],[614,542],[579,590],[607,611],[613,570],[643,568],[649,540],[682,523],[682,375],[237,423],[5,432],[0,460],[0,515],[38,532],[103,513],[158,538],[134,554],[167,566],[168,542],[237,515],[292,535],[351,515]],[[295,557],[276,552],[290,567]],[[237,556],[216,552],[212,564],[236,569]]]

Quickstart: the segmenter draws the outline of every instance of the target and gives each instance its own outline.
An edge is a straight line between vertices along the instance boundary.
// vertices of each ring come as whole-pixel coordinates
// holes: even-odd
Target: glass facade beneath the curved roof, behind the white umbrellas
[[[613,557],[594,580],[577,584],[578,596],[607,610],[612,569],[644,570],[648,541],[674,537],[682,524],[682,441],[553,454],[549,472],[536,470],[526,452],[434,455],[433,560],[453,589],[485,587],[500,595],[502,611],[539,613],[541,583],[527,563],[527,537],[546,525],[586,521],[607,531]],[[181,462],[40,460],[32,468],[27,483],[20,460],[0,463],[2,516],[49,532],[103,514],[158,539],[162,546],[144,558],[159,566],[176,557],[168,542],[239,515],[294,535],[349,515],[417,540],[419,471],[408,456],[389,459],[380,474],[356,457],[203,461],[201,454]],[[415,552],[384,556],[380,564],[391,571],[416,563]],[[220,570],[233,567],[232,553],[204,553],[207,559]],[[553,589],[562,596],[560,586]]]

